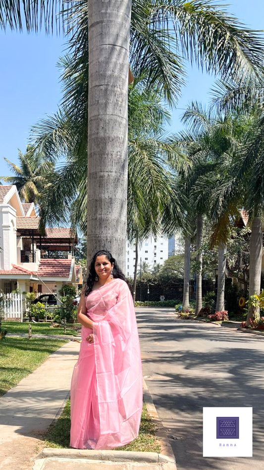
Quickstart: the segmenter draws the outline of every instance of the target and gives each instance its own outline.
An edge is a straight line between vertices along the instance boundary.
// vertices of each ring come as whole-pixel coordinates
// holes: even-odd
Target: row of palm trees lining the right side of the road
[[[243,114],[217,115],[205,112],[197,103],[187,109],[183,116],[191,123],[193,134],[182,139],[187,143],[192,166],[190,205],[197,214],[198,272],[196,313],[201,309],[202,269],[200,251],[202,219],[207,216],[212,227],[211,243],[218,246],[218,285],[216,311],[224,310],[224,281],[226,270],[226,246],[240,209],[246,209],[251,222],[250,285],[249,296],[260,293],[262,263],[262,223],[264,210],[263,193],[263,113],[258,107],[248,108]],[[202,171],[201,171],[202,169]],[[189,191],[189,190],[188,190]],[[187,234],[188,235],[188,234]],[[186,238],[187,240],[187,238]],[[186,275],[188,275],[186,255]],[[188,279],[187,279],[188,282]],[[184,308],[188,307],[185,293]],[[248,319],[256,314],[249,309]]]

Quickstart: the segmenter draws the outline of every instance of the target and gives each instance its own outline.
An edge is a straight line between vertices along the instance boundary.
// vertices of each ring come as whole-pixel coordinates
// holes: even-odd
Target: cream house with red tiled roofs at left
[[[22,203],[16,186],[0,186],[0,290],[58,293],[82,284],[74,258],[77,235],[70,228],[39,229],[35,204]]]

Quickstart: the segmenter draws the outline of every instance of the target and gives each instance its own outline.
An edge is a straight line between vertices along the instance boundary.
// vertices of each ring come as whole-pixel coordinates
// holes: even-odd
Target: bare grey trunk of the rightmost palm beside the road
[[[262,266],[262,223],[260,217],[255,217],[252,222],[250,238],[250,265],[249,265],[249,297],[255,292],[261,291],[261,266]],[[250,307],[247,323],[251,318],[258,318],[260,309]]]

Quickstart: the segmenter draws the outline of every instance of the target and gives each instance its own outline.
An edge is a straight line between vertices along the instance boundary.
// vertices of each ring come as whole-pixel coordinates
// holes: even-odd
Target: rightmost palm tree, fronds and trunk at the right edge
[[[263,82],[240,83],[219,82],[214,90],[213,104],[220,110],[240,109],[246,125],[241,126],[243,151],[240,151],[235,164],[231,167],[229,178],[218,194],[220,212],[228,210],[239,201],[240,207],[247,209],[252,228],[250,240],[250,286],[249,297],[260,293],[262,265],[262,219],[264,215],[263,181],[263,131],[264,131],[264,86]],[[242,117],[243,117],[242,114]],[[259,310],[249,307],[247,323]]]

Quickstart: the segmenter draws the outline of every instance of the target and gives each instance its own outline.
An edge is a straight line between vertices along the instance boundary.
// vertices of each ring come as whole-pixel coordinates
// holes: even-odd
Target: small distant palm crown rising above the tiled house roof
[[[47,183],[48,174],[53,172],[53,163],[36,155],[28,146],[23,155],[18,151],[19,165],[4,158],[15,176],[1,176],[0,179],[17,187],[18,194],[24,202],[38,202],[40,193]]]

